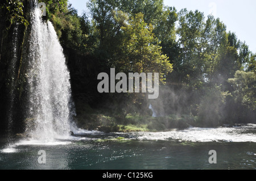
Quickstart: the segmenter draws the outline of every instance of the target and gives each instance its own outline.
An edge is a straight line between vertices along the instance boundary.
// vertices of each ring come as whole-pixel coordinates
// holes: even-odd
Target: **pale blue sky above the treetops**
[[[88,0],[69,0],[79,15],[86,9]],[[235,32],[238,39],[256,53],[256,1],[255,0],[164,0],[164,5],[174,6],[177,11],[199,10],[205,16],[214,15],[226,24],[227,31]]]

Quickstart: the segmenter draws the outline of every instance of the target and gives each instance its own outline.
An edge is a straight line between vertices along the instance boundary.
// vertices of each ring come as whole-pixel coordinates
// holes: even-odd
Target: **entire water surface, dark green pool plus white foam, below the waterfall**
[[[255,124],[157,133],[79,130],[52,142],[2,141],[0,169],[256,169],[255,136]],[[39,150],[46,151],[46,163],[38,162]],[[209,163],[209,150],[216,150],[216,164]]]

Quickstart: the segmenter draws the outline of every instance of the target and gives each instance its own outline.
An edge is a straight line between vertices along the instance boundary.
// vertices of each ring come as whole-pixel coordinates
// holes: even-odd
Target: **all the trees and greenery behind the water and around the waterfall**
[[[28,2],[1,4],[2,128],[8,111],[4,95],[11,56],[7,49],[15,22],[23,26],[20,36],[26,35]],[[39,2],[46,3],[44,20],[53,23],[67,59],[79,127],[126,132],[255,123],[256,54],[236,33],[226,31],[221,19],[200,10],[177,11],[164,6],[163,0],[90,0],[89,12],[81,16],[67,0]],[[19,41],[22,49],[24,37]],[[22,61],[19,64],[26,69]],[[159,98],[148,100],[143,93],[100,94],[97,75],[109,73],[110,68],[126,74],[158,72]],[[15,79],[22,81],[22,69]],[[26,89],[17,91],[16,102],[22,106]],[[150,104],[157,117],[152,117]]]

